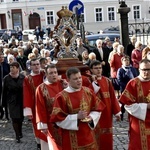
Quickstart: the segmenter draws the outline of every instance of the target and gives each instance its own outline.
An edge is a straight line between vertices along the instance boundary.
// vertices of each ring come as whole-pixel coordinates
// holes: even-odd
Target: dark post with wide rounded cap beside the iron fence
[[[130,8],[126,5],[125,0],[118,0],[119,8],[118,13],[120,14],[119,26],[120,26],[120,37],[121,43],[125,48],[125,53],[127,51],[127,46],[129,44],[129,29],[128,29],[128,13]]]

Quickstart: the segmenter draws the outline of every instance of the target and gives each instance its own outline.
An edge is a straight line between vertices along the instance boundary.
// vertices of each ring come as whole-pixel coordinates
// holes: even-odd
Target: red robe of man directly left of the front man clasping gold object
[[[42,83],[36,90],[36,122],[48,125],[51,138],[58,146],[61,146],[61,129],[54,123],[50,123],[50,115],[53,109],[55,95],[63,90],[62,82],[53,84]]]

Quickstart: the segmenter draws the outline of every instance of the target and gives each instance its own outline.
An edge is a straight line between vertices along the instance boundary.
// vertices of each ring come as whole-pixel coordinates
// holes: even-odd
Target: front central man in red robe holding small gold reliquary
[[[105,105],[82,86],[79,69],[69,68],[66,75],[69,86],[56,95],[50,121],[62,128],[63,150],[97,150],[94,128]]]

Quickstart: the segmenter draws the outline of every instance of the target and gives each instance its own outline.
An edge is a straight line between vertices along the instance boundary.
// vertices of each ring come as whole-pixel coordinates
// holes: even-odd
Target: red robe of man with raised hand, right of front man
[[[108,78],[102,76],[97,80],[100,90],[97,96],[106,105],[95,129],[99,150],[113,150],[113,115],[120,112],[120,106],[116,99],[113,86]]]

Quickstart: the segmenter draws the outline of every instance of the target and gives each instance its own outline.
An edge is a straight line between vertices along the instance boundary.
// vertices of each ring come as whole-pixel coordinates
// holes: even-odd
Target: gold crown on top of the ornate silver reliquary
[[[62,6],[62,9],[60,11],[57,12],[57,16],[59,18],[62,17],[71,17],[73,15],[73,12],[70,11],[67,6]]]

